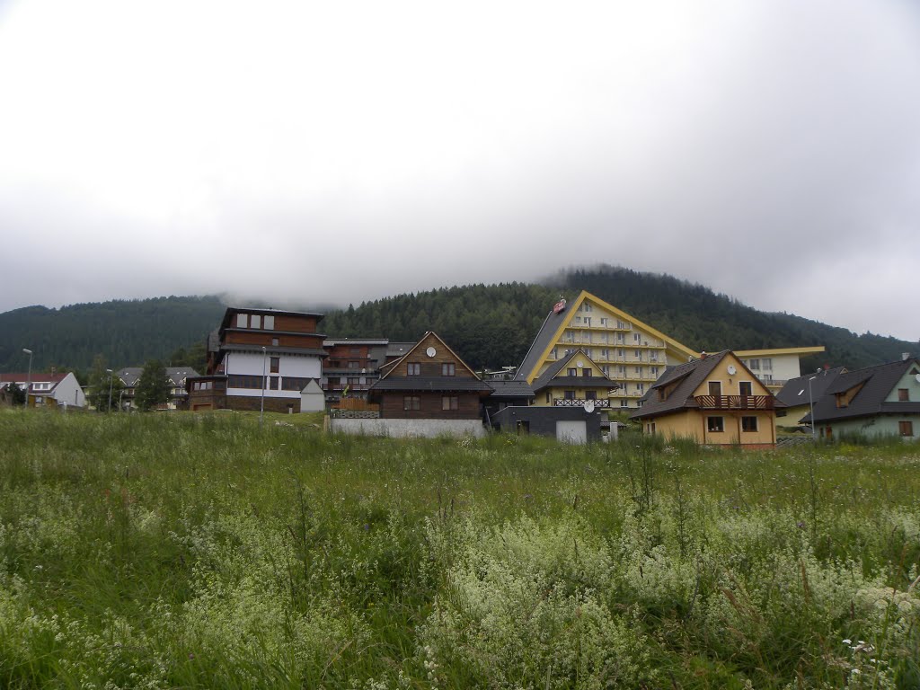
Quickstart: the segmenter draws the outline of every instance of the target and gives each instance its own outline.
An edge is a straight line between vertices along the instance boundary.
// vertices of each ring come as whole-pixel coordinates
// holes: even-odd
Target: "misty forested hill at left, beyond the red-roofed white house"
[[[151,358],[167,362],[178,348],[203,345],[225,308],[211,296],[14,309],[0,314],[0,371],[25,371],[29,356],[23,348],[34,353],[35,371],[86,371],[97,354],[114,368]]]

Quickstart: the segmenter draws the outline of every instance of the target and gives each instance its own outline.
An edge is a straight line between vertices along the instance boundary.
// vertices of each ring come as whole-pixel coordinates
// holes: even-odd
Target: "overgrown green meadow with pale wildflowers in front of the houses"
[[[0,411],[0,687],[920,686],[916,444],[275,421]]]

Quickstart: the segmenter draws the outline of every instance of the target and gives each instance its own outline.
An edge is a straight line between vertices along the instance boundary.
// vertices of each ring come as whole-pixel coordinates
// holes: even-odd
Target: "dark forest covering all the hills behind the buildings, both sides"
[[[918,353],[916,342],[872,334],[789,314],[742,305],[697,283],[667,275],[600,266],[560,272],[538,284],[466,285],[365,302],[329,311],[321,330],[338,338],[416,340],[437,331],[474,367],[518,364],[559,295],[596,294],[639,320],[695,350],[782,348],[824,345],[826,353],[803,362],[850,368]],[[0,371],[25,369],[26,347],[33,367],[86,371],[100,354],[113,367],[139,366],[148,359],[190,364],[194,351],[224,313],[219,297],[160,297],[61,309],[29,306],[0,314]],[[171,361],[177,358],[182,362]]]

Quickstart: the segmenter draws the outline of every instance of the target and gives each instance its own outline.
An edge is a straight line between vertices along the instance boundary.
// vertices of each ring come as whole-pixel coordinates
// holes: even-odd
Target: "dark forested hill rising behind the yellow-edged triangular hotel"
[[[834,328],[800,316],[771,314],[724,294],[671,276],[610,266],[569,270],[541,285],[467,285],[401,294],[328,314],[327,333],[339,337],[419,339],[435,330],[474,367],[518,364],[564,295],[581,290],[697,351],[751,350],[824,345],[827,351],[803,361],[803,370],[827,362],[858,368],[918,350],[917,343]]]

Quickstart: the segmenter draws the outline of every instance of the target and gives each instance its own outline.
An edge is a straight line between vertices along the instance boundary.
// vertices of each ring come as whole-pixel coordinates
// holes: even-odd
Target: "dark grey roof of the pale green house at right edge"
[[[911,370],[911,367],[917,367],[920,370],[920,361],[910,358],[838,375],[834,382],[828,385],[824,395],[814,403],[815,422],[846,420],[877,414],[920,412],[920,401],[885,402],[885,398],[891,394],[894,386],[901,381],[904,374]],[[849,405],[845,408],[838,408],[836,394],[845,393],[860,384],[863,384],[862,388],[850,400]],[[805,415],[802,421],[811,421],[811,413]]]

